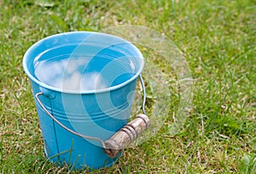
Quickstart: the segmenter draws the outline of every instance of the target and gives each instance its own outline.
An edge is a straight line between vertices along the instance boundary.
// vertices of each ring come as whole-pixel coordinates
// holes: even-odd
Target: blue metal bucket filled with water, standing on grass
[[[47,158],[73,169],[113,165],[121,153],[110,158],[101,142],[130,118],[141,52],[112,35],[66,32],[33,44],[22,63],[37,99]]]

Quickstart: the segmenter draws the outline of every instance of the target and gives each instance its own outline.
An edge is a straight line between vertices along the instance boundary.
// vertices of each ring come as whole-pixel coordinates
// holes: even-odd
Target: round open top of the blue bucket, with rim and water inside
[[[111,90],[137,78],[143,55],[122,38],[70,32],[45,38],[28,49],[23,62],[33,81],[51,90]]]

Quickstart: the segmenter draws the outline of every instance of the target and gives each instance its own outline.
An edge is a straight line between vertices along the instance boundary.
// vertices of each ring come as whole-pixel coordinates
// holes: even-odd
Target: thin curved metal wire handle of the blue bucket
[[[144,85],[144,82],[143,82],[143,77],[142,75],[139,76],[140,78],[140,81],[141,81],[141,84],[142,84],[142,88],[143,88],[143,106],[142,106],[142,109],[143,109],[143,113],[146,115],[146,111],[145,111],[145,103],[146,103],[146,90],[145,90],[145,85]],[[61,124],[61,122],[58,120],[58,119],[55,119],[55,117],[49,113],[49,111],[47,110],[46,107],[44,107],[44,104],[40,101],[39,97],[38,96],[41,96],[41,95],[44,95],[44,92],[38,92],[36,95],[35,95],[35,98],[36,100],[38,101],[38,104],[40,105],[40,107],[42,107],[42,109],[44,110],[45,113],[47,113],[49,115],[49,117],[51,119],[53,119],[55,121],[55,123],[57,123],[58,125],[60,125],[62,128],[64,128],[66,131],[69,131],[70,133],[73,133],[74,135],[76,136],[80,136],[80,137],[83,137],[85,139],[89,139],[89,140],[95,140],[95,141],[98,141],[98,142],[101,142],[102,144],[102,148],[106,148],[106,145],[105,145],[105,142],[102,141],[102,139],[100,138],[97,138],[97,137],[94,137],[94,136],[84,136],[82,134],[79,134],[78,132],[76,131],[72,131],[71,129],[67,128],[67,126]]]

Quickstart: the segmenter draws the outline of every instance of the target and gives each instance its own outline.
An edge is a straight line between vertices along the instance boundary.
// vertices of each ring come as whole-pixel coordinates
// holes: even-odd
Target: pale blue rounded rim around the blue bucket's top
[[[111,38],[117,38],[119,40],[124,41],[124,43],[130,44],[131,47],[136,50],[139,58],[142,59],[141,61],[141,66],[139,67],[138,71],[136,74],[134,74],[131,78],[129,78],[128,80],[126,80],[125,82],[121,83],[121,84],[117,84],[108,88],[104,88],[101,90],[63,90],[60,88],[55,88],[49,84],[45,84],[44,82],[41,82],[40,80],[38,80],[38,78],[35,78],[32,73],[30,73],[30,71],[28,70],[28,67],[26,65],[26,60],[28,59],[28,55],[29,53],[32,51],[32,49],[36,48],[38,46],[38,44],[41,44],[44,42],[44,40],[50,39],[50,38],[55,38],[57,36],[61,36],[61,35],[69,35],[69,34],[97,34],[97,35],[102,35],[102,36],[108,36]],[[105,93],[105,92],[109,92],[112,90],[118,90],[122,87],[124,87],[126,84],[130,84],[133,80],[137,79],[142,73],[143,73],[143,68],[144,68],[144,58],[143,58],[143,54],[141,53],[141,51],[139,49],[137,49],[137,47],[134,44],[131,44],[131,42],[125,40],[124,38],[120,38],[111,34],[107,34],[107,33],[103,33],[103,32],[89,32],[89,31],[78,31],[78,32],[61,32],[61,33],[57,33],[57,34],[53,34],[50,35],[46,38],[42,38],[40,40],[38,40],[38,42],[32,44],[27,50],[26,53],[23,56],[23,60],[22,60],[22,67],[24,69],[24,72],[26,73],[26,75],[28,76],[28,78],[30,78],[32,80],[32,82],[38,84],[40,87],[43,87],[44,89],[47,90],[53,90],[56,92],[61,92],[61,93],[67,93],[67,94],[97,94],[97,93]]]

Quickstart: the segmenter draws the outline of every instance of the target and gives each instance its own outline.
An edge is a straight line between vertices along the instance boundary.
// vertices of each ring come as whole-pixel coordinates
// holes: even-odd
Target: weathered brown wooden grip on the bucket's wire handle
[[[108,156],[115,157],[119,151],[133,142],[143,131],[148,129],[150,120],[145,114],[138,114],[136,119],[122,127],[111,138],[104,142],[104,151]]]

